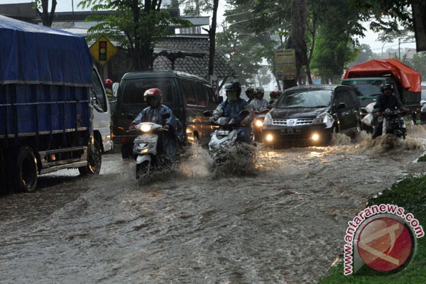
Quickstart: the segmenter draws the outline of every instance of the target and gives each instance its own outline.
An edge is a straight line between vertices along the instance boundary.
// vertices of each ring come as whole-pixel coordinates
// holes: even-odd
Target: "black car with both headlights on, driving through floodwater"
[[[332,133],[359,131],[359,111],[359,100],[351,87],[324,84],[286,89],[266,114],[263,143],[327,144]]]

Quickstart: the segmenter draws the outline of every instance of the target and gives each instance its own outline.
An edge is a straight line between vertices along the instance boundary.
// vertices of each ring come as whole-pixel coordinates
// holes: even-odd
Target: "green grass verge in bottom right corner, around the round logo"
[[[426,160],[426,158],[425,158]],[[405,209],[406,213],[413,213],[426,231],[426,175],[420,178],[405,178],[393,185],[391,190],[383,191],[383,195],[370,198],[368,206],[373,204],[396,204]],[[346,229],[346,228],[345,228]],[[342,248],[343,250],[343,248]],[[340,256],[340,258],[343,258]],[[403,284],[426,283],[426,236],[417,239],[417,251],[413,262],[405,270],[391,275],[343,275],[343,261],[330,268],[329,274],[319,283],[356,283],[356,284]]]

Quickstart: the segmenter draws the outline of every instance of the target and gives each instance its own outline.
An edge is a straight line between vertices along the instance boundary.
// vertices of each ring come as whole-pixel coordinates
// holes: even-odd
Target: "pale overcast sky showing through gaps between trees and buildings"
[[[31,0],[0,0],[1,4],[11,4],[11,3],[28,3],[28,2],[34,2]],[[77,4],[80,3],[80,0],[57,0],[58,4],[56,6],[56,11],[63,12],[63,11],[72,11],[72,2],[74,2],[74,11],[82,11],[82,9],[77,8]],[[226,10],[226,1],[225,0],[219,0],[219,9],[218,9],[218,15],[219,18],[217,19],[217,23],[220,25],[222,21],[224,20],[224,17],[222,16],[224,11]],[[220,28],[220,27],[219,27]],[[386,52],[388,48],[398,49],[398,40],[395,40],[393,43],[385,43],[383,45],[382,42],[377,40],[378,34],[373,33],[372,31],[368,31],[366,33],[365,38],[360,38],[360,43],[366,43],[371,46],[371,50],[373,50],[373,53],[381,54],[382,48],[383,53]],[[402,43],[400,45],[401,52],[403,48],[414,48],[415,49],[415,43]]]

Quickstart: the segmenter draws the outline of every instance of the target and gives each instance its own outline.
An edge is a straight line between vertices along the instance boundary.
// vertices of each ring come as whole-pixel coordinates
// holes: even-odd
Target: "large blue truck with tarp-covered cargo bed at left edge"
[[[84,38],[0,16],[0,50],[0,189],[30,192],[38,175],[65,168],[99,173]]]

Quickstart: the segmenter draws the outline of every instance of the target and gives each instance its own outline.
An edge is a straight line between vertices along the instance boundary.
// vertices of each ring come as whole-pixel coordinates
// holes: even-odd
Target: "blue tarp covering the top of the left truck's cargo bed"
[[[92,57],[80,35],[0,16],[0,84],[90,86]]]

